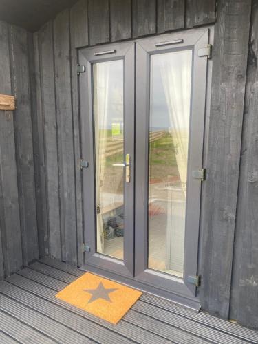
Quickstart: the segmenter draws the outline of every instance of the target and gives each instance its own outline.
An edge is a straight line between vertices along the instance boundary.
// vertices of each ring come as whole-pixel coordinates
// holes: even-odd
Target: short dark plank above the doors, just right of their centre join
[[[133,0],[133,37],[155,32],[156,0]]]

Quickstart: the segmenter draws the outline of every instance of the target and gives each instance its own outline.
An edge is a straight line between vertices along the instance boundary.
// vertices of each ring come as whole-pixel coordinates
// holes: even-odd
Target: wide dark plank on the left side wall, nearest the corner
[[[28,36],[24,29],[10,27],[11,75],[17,109],[14,112],[14,138],[21,219],[23,264],[39,257],[36,226],[36,196],[32,142]]]

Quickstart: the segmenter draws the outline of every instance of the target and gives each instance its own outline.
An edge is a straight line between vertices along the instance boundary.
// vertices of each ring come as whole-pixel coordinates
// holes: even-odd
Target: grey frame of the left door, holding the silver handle
[[[112,52],[113,51],[113,52]],[[132,277],[134,274],[134,55],[133,42],[116,43],[105,46],[91,47],[79,50],[78,61],[85,66],[85,72],[80,74],[80,118],[82,137],[82,156],[89,162],[83,169],[83,211],[85,224],[85,244],[90,248],[85,252],[85,268],[108,270],[118,275]],[[92,65],[97,62],[124,61],[124,153],[131,155],[131,180],[124,182],[124,260],[114,259],[99,254],[96,249],[96,195],[94,173],[94,114],[92,107]],[[125,157],[124,157],[125,158]]]

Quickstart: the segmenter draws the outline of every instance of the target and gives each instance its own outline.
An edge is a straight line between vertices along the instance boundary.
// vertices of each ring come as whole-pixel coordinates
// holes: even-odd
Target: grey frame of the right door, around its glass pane
[[[202,169],[204,119],[207,85],[207,57],[198,50],[207,47],[211,36],[208,28],[155,36],[136,43],[136,195],[135,195],[135,279],[196,300],[196,286],[187,277],[197,275],[200,229],[201,180],[192,171]],[[168,41],[174,42],[162,45]],[[158,43],[158,46],[156,45]],[[148,268],[148,183],[149,183],[149,98],[150,56],[180,50],[193,51],[191,118],[186,192],[186,231],[184,245],[184,277],[181,279]],[[144,157],[144,158],[143,158]]]

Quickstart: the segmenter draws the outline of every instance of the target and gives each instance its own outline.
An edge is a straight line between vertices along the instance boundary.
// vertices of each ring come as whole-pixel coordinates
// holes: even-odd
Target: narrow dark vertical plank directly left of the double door
[[[78,266],[83,266],[83,195],[82,195],[82,173],[80,170],[81,143],[80,143],[80,113],[78,107],[78,75],[76,65],[78,56],[76,50],[77,36],[80,31],[76,28],[76,17],[71,17],[71,75],[72,75],[72,115],[74,126],[74,173],[76,182],[76,235]]]

